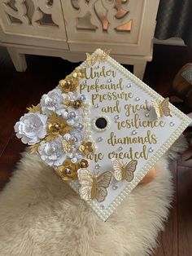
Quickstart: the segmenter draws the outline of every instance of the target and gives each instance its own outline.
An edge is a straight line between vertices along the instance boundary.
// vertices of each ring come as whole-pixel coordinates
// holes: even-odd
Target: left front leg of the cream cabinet
[[[16,71],[24,72],[27,68],[25,55],[20,54],[15,48],[7,47],[7,51],[11,57],[11,60],[15,66]]]

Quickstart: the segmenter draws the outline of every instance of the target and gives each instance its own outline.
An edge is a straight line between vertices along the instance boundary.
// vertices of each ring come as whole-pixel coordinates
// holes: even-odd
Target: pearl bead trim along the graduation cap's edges
[[[94,51],[91,56],[95,56],[98,52],[104,53],[103,50],[98,49]],[[151,89],[150,86],[147,86],[144,82],[142,82],[139,78],[130,73],[129,70],[124,68],[121,64],[119,64],[116,60],[112,59],[110,56],[107,58],[108,64],[111,64],[112,67],[117,68],[120,73],[125,78],[131,80],[131,82],[135,82],[136,85],[141,89],[144,90],[148,95],[150,95],[153,99],[158,101],[159,103],[164,99],[163,96],[159,95],[155,90]],[[87,66],[86,60],[80,65],[81,68],[85,68]],[[107,209],[102,210],[95,201],[87,201],[87,204],[92,207],[95,213],[101,218],[104,222],[110,215],[116,210],[117,206],[121,204],[122,201],[129,195],[129,193],[137,186],[137,184],[144,178],[147,171],[151,169],[152,166],[155,165],[157,161],[159,161],[160,157],[164,155],[164,153],[171,147],[172,143],[174,143],[181,133],[185,130],[185,128],[190,124],[191,119],[187,117],[184,113],[182,113],[178,108],[170,104],[170,109],[172,113],[174,113],[177,117],[179,117],[182,121],[181,125],[174,131],[174,133],[165,141],[165,143],[159,148],[159,150],[155,153],[151,160],[146,163],[146,165],[142,168],[142,170],[137,174],[137,176],[130,182],[122,192],[120,192],[119,196],[116,196],[116,199],[111,202],[111,205],[107,207]],[[79,194],[78,187],[74,182],[68,183],[70,187]]]

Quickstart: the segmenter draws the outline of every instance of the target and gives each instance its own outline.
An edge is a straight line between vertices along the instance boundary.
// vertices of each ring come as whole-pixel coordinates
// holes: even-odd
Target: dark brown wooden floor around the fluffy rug
[[[0,48],[0,189],[9,181],[24,144],[15,138],[15,121],[26,107],[37,104],[43,93],[53,89],[76,64],[59,58],[28,56],[25,73],[15,72],[5,49]],[[182,46],[155,46],[154,59],[147,64],[144,82],[161,95],[170,94],[172,79],[185,63],[192,63],[192,51]],[[185,112],[191,110],[185,109]],[[190,150],[192,152],[192,150]],[[159,249],[153,256],[192,255],[192,161],[171,163],[176,188],[175,201],[165,231],[159,234]],[[142,256],[142,255],[141,255]]]

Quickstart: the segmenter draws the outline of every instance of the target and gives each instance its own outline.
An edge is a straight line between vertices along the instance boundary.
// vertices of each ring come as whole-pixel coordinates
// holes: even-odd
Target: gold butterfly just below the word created
[[[126,180],[132,181],[134,178],[134,171],[136,170],[137,160],[132,160],[125,165],[118,159],[112,159],[112,165],[114,168],[114,177],[117,181]]]

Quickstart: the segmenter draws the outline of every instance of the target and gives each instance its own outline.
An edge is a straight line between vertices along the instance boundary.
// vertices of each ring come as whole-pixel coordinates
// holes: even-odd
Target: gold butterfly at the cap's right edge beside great
[[[153,101],[153,105],[155,108],[155,113],[157,115],[157,118],[160,117],[172,117],[170,108],[168,107],[169,104],[169,99],[165,98],[160,104],[157,102]]]

